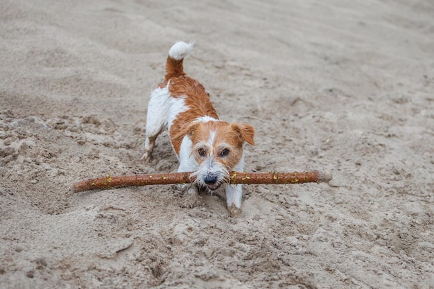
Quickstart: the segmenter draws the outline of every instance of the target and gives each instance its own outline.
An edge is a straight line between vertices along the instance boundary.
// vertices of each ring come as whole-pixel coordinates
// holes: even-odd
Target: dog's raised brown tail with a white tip
[[[184,62],[184,57],[189,55],[191,49],[193,49],[193,42],[186,44],[185,42],[180,41],[173,44],[171,49],[168,51],[168,57],[166,60],[166,81],[173,77],[185,75],[182,62]]]

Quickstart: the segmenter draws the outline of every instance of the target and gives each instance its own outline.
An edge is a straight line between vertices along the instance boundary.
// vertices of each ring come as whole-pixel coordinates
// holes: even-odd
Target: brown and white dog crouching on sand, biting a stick
[[[192,48],[192,42],[177,42],[168,51],[166,78],[150,95],[142,159],[151,158],[155,139],[167,127],[180,161],[177,171],[196,177],[194,184],[184,185],[188,193],[183,207],[202,204],[199,189],[214,191],[224,184],[229,214],[240,216],[241,184],[229,184],[229,171],[243,171],[243,144],[254,145],[254,128],[218,119],[208,92],[184,72],[182,64]]]

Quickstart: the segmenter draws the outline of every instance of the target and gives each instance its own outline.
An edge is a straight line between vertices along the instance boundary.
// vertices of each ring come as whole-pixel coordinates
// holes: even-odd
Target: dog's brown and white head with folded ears
[[[196,183],[214,191],[229,182],[229,171],[243,161],[243,143],[254,145],[254,128],[243,123],[198,121],[187,128],[191,155],[199,164]]]

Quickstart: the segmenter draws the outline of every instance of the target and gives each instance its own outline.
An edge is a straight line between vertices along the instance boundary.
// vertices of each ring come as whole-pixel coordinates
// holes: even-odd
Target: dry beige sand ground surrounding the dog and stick
[[[0,288],[434,288],[433,1],[0,4]],[[168,49],[220,118],[254,125],[243,216],[175,186],[72,193],[142,163]],[[224,193],[220,192],[220,195]]]

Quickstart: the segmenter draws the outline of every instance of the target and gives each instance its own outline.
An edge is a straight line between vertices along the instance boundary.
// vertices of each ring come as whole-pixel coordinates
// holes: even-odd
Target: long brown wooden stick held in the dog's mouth
[[[191,173],[167,173],[150,175],[122,175],[118,177],[100,177],[76,182],[72,185],[73,192],[92,191],[100,189],[121,188],[124,186],[146,186],[153,184],[188,184],[194,182]],[[240,173],[229,174],[230,184],[302,184],[308,182],[329,182],[329,170],[311,170],[293,173]]]

